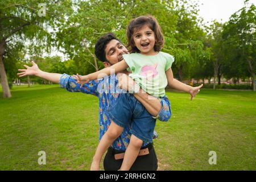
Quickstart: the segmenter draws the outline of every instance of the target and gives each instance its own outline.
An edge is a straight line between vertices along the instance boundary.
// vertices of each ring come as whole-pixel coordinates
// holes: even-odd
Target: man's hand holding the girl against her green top
[[[117,77],[119,88],[126,90],[129,93],[139,93],[139,86],[131,77],[121,73],[119,73]]]

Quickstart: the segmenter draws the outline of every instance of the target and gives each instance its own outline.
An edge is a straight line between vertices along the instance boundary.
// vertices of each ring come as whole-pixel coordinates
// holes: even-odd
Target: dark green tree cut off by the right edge
[[[243,7],[234,13],[229,22],[225,24],[222,38],[225,50],[232,53],[230,60],[240,65],[241,70],[252,77],[252,86],[255,91],[256,73],[256,7]]]

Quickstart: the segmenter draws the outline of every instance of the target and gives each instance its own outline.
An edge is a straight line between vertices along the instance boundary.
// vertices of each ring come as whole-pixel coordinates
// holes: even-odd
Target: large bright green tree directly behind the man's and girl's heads
[[[150,14],[156,16],[159,23],[167,25],[163,30],[175,26],[172,10],[166,3],[173,1],[79,1],[72,16],[59,28],[57,38],[59,47],[63,47],[69,57],[79,67],[80,74],[88,74],[103,67],[94,55],[94,44],[100,36],[113,32],[117,38],[127,43],[126,27],[130,20]],[[145,9],[145,7],[147,7]],[[174,28],[171,29],[172,32]],[[93,68],[93,69],[92,69]]]

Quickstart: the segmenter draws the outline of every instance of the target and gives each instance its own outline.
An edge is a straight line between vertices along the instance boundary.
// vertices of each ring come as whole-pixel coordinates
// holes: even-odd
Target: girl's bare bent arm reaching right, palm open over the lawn
[[[171,68],[169,68],[166,71],[166,77],[167,77],[167,80],[168,80],[168,86],[171,86],[172,88],[174,88],[176,90],[180,90],[180,91],[190,93],[191,94],[191,100],[193,100],[193,97],[195,97],[196,94],[200,92],[200,88],[202,88],[202,86],[203,86],[203,84],[201,84],[200,86],[193,87],[193,86],[184,84],[183,82],[180,82],[180,81],[176,80],[174,78],[174,75],[172,73]]]

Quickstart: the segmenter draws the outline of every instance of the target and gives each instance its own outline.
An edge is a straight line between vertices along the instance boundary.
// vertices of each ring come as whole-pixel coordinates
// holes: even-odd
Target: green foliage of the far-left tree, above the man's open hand
[[[43,3],[46,7],[45,15],[40,14],[42,1],[0,2],[0,43],[5,45],[2,58],[9,82],[16,78],[17,69],[22,68],[16,67],[20,66],[18,62],[27,62],[25,55],[39,57],[51,51],[55,44],[55,34],[51,30],[63,23],[65,17],[73,11],[70,1],[49,0]]]

